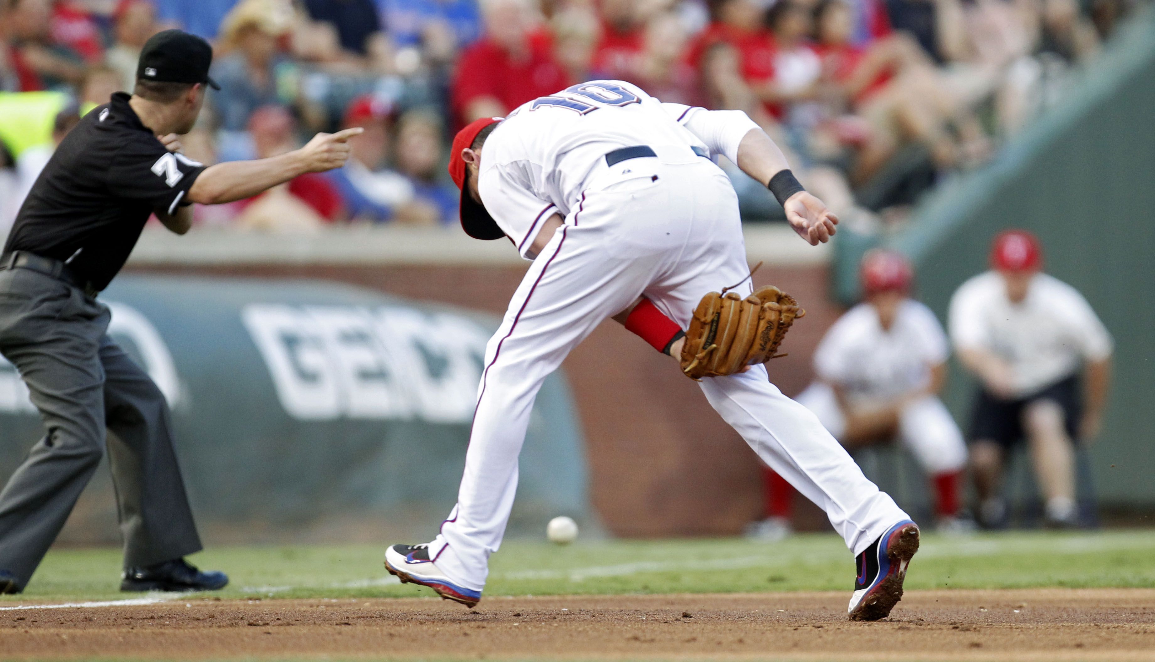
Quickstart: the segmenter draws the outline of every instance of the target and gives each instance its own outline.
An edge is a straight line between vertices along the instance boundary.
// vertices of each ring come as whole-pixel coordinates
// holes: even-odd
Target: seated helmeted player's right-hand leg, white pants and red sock
[[[899,438],[930,477],[940,528],[957,530],[967,445],[951,412],[931,395],[911,401],[899,414]]]

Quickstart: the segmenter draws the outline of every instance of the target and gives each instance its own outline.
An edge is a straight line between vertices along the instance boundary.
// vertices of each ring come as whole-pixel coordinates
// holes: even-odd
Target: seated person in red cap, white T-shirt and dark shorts
[[[1091,441],[1102,425],[1111,335],[1078,290],[1042,273],[1030,232],[999,233],[990,262],[954,293],[949,314],[955,351],[979,386],[969,432],[979,523],[1006,523],[1003,466],[1026,439],[1046,522],[1070,527],[1074,442]]]

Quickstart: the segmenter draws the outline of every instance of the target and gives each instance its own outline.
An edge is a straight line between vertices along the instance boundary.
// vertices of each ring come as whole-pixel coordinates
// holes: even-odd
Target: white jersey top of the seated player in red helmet
[[[925,388],[931,367],[948,355],[946,333],[923,304],[904,300],[887,330],[864,303],[826,332],[814,350],[814,372],[843,387],[851,403],[885,402]]]

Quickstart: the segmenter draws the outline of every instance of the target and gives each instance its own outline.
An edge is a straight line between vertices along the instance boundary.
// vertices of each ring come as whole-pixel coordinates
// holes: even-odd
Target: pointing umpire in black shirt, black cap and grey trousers
[[[178,135],[195,124],[204,85],[219,89],[208,76],[211,61],[200,37],[166,30],[150,38],[134,94],[113,95],[60,143],[0,256],[0,354],[20,371],[45,429],[0,492],[0,593],[23,590],[105,447],[125,543],[121,590],[211,590],[229,581],[184,560],[201,541],[169,406],[106,335],[110,313],[97,295],[150,214],[184,235],[193,202],[231,202],[340,168],[360,129],[206,168],[180,154]]]

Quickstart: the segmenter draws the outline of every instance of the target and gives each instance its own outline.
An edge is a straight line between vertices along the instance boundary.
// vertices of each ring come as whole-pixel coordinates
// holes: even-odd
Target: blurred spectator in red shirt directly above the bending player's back
[[[462,54],[453,81],[457,121],[504,116],[572,83],[526,0],[492,0],[483,12],[485,35]]]

